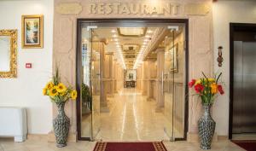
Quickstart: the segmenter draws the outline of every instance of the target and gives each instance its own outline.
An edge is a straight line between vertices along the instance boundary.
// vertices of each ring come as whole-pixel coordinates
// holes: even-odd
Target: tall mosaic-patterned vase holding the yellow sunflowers
[[[67,146],[67,136],[70,126],[70,120],[68,119],[64,111],[65,102],[58,102],[56,103],[56,106],[58,107],[58,115],[53,120],[53,127],[57,143],[56,146],[58,148],[63,148]]]

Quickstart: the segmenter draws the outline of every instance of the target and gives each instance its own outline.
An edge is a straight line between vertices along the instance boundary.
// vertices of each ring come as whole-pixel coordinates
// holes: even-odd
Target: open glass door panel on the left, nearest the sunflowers
[[[81,137],[95,140],[100,131],[101,47],[94,34],[96,26],[90,24],[82,26]]]

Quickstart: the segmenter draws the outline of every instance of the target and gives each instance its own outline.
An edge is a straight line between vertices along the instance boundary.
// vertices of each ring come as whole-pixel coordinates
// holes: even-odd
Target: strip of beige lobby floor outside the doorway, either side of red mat
[[[69,142],[65,148],[56,148],[54,142],[27,140],[13,142],[0,139],[0,151],[93,151],[96,142]],[[168,151],[200,151],[199,144],[188,142],[164,142]],[[212,151],[243,151],[232,142],[214,142]]]

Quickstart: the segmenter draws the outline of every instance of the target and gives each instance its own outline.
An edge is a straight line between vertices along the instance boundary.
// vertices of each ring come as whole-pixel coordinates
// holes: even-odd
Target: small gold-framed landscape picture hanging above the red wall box
[[[22,15],[22,48],[43,48],[44,22],[43,15]]]

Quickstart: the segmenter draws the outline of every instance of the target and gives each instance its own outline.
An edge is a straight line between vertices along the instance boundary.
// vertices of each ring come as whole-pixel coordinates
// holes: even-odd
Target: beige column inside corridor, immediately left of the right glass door
[[[155,112],[161,112],[162,107],[164,107],[165,100],[163,96],[163,85],[162,85],[162,73],[165,69],[165,48],[161,47],[156,49],[157,53],[157,79],[156,79],[156,108]]]

